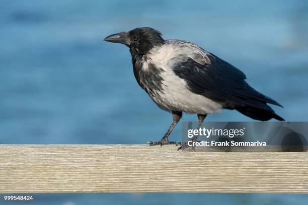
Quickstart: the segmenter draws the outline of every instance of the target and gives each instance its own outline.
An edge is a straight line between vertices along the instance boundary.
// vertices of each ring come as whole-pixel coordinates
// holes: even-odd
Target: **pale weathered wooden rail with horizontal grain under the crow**
[[[0,192],[308,192],[307,152],[0,145]]]

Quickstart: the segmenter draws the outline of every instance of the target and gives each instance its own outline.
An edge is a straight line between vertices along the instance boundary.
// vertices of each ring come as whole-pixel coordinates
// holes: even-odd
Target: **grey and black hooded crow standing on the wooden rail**
[[[176,144],[168,137],[182,112],[197,114],[198,128],[208,114],[222,109],[237,110],[260,121],[284,121],[267,104],[282,107],[274,99],[252,88],[235,66],[188,41],[164,40],[155,29],[141,27],[104,39],[129,47],[134,76],[142,89],[163,110],[172,113],[173,123],[158,142]]]

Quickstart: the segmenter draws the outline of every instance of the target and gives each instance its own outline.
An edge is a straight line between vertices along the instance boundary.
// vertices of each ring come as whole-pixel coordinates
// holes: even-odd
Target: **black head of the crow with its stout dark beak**
[[[135,52],[138,55],[144,55],[151,48],[163,45],[165,42],[159,31],[148,27],[113,34],[107,36],[104,40],[112,43],[122,43],[130,48],[130,52]]]

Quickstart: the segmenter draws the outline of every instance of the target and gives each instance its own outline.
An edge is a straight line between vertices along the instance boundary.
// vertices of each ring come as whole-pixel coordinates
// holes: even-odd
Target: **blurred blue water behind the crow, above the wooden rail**
[[[128,49],[103,41],[140,26],[197,43],[234,64],[284,106],[274,107],[284,119],[307,121],[307,1],[2,1],[0,143],[159,140],[171,115],[137,85]],[[252,121],[234,111],[206,120]],[[178,126],[170,138],[179,141],[180,135]],[[236,204],[258,196],[226,197]]]

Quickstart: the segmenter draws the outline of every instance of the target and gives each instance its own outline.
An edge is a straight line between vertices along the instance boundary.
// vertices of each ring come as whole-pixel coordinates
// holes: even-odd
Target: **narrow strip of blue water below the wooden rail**
[[[0,194],[1,197],[3,197]],[[170,204],[306,204],[304,194],[276,193],[35,193],[33,201],[24,204],[31,205],[83,205],[83,204],[127,204],[127,205],[170,205]],[[49,201],[49,202],[47,202]],[[0,199],[0,204],[1,199]],[[20,201],[10,201],[10,205],[22,204]]]

